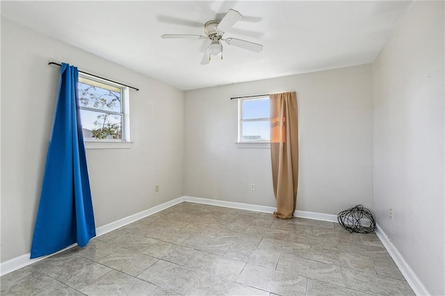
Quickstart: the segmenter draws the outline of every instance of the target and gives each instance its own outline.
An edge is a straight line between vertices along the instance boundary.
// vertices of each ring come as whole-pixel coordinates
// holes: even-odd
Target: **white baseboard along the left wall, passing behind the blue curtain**
[[[170,208],[170,206],[175,206],[175,204],[180,204],[181,202],[184,202],[184,197],[178,197],[176,199],[172,199],[172,200],[170,200],[170,202],[165,202],[163,204],[159,204],[159,206],[154,206],[153,208],[149,208],[145,211],[136,213],[136,214],[128,216],[128,217],[124,217],[121,220],[111,222],[111,223],[106,224],[102,227],[97,227],[96,237],[102,236],[105,233],[108,233],[110,231],[113,231],[115,229],[123,227],[127,224],[136,222],[137,220],[140,220],[140,219],[147,217],[149,215],[153,215],[154,213],[158,213],[159,211],[163,211],[163,210],[165,210],[165,208]],[[74,247],[76,245],[77,244],[70,245],[69,247],[66,247],[65,249],[61,249],[60,251],[58,251],[54,254],[42,256],[39,258],[31,259],[31,253],[26,253],[21,256],[12,258],[8,261],[2,262],[2,263],[0,263],[0,276],[8,274],[10,272],[13,272],[15,270],[18,270],[20,268],[24,268],[25,266],[28,266],[35,262],[43,260],[44,258],[48,258],[49,256],[54,256],[60,252],[65,251],[66,249],[70,249],[71,247]]]

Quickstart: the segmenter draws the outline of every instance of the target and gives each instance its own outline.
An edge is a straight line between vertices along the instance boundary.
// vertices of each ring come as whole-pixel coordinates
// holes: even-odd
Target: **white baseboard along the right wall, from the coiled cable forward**
[[[387,249],[391,258],[394,260],[394,263],[396,263],[398,269],[401,270],[403,277],[405,277],[407,283],[410,285],[414,293],[416,293],[416,295],[431,295],[426,286],[423,285],[419,277],[417,277],[414,271],[410,268],[410,265],[408,265],[408,263],[405,261],[402,254],[398,252],[396,246],[394,246],[389,240],[385,231],[383,231],[378,224],[376,226],[377,231],[375,231],[375,233],[385,246],[385,249]]]

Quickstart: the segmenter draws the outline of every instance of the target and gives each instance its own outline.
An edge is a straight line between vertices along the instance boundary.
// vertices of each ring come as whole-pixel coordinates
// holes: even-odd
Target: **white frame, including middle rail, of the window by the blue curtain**
[[[111,149],[111,148],[131,148],[131,140],[130,140],[130,92],[129,88],[125,85],[115,83],[113,81],[108,81],[107,79],[101,79],[96,76],[92,76],[86,73],[79,72],[79,78],[86,79],[89,81],[95,81],[97,83],[103,83],[105,85],[109,85],[113,88],[120,89],[120,98],[121,98],[121,108],[120,113],[111,111],[111,110],[101,110],[99,108],[90,108],[83,107],[79,101],[79,109],[81,110],[89,110],[92,112],[101,112],[112,115],[120,115],[122,116],[122,140],[112,140],[112,139],[84,139],[86,144],[86,149]],[[79,97],[80,100],[80,97]]]

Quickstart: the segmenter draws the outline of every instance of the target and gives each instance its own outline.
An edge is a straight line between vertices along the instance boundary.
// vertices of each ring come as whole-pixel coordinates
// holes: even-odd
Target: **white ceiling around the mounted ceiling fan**
[[[1,1],[1,15],[181,90],[371,63],[411,1]],[[244,17],[225,33],[264,45],[224,46],[200,65],[203,24],[229,8]],[[68,22],[67,19],[71,17]],[[63,62],[63,61],[62,61]],[[104,74],[105,75],[105,74]]]

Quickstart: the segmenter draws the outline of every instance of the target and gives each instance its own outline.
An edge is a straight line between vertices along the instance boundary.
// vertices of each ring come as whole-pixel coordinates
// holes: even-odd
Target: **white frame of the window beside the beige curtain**
[[[245,97],[238,99],[238,136],[236,140],[237,148],[270,148],[270,140],[257,140],[257,141],[245,141],[243,140],[243,122],[270,122],[269,117],[257,117],[250,119],[243,119],[243,102],[244,101],[257,101],[270,99],[269,96],[258,96],[258,97]]]

